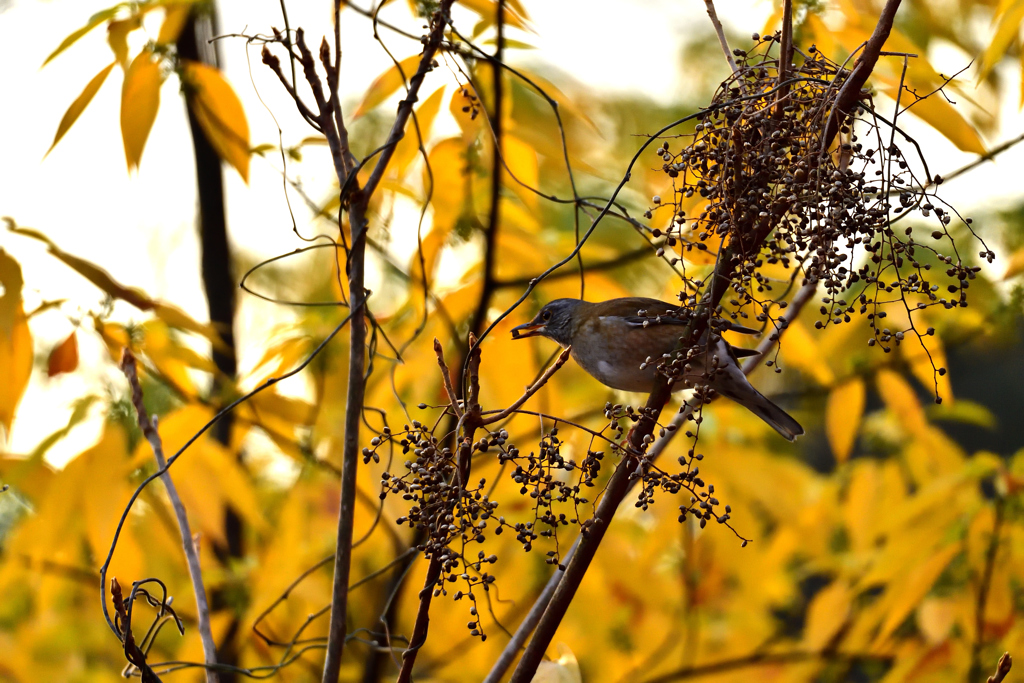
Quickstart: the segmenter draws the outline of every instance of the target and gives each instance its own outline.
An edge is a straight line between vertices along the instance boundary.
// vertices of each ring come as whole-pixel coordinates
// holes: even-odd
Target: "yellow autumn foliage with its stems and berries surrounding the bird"
[[[688,49],[714,78],[657,105],[525,58],[528,2],[411,2],[400,22],[342,3],[393,59],[353,101],[335,27],[218,39],[288,96],[268,140],[248,81],[181,54],[207,3],[122,3],[52,37],[47,62],[103,32],[113,60],[40,157],[120,82],[102,125],[145,182],[158,112],[183,104],[224,168],[281,183],[294,251],[254,263],[230,225],[232,337],[120,282],[113,252],[4,219],[0,680],[203,680],[213,658],[220,680],[321,680],[325,659],[364,682],[1001,680],[1024,651],[1024,212],[945,197],[1021,140],[982,105],[1019,73],[1019,4],[778,3],[724,55],[709,24]],[[991,26],[951,32],[940,9]],[[940,40],[979,60],[940,73]],[[299,180],[314,169],[332,181]],[[29,250],[82,290],[40,297]],[[705,387],[652,408],[513,341],[552,299],[638,295],[679,302],[693,343],[756,346],[752,382],[807,434]],[[43,419],[24,396],[83,369],[49,436],[12,450]],[[545,660],[512,674],[563,571]]]

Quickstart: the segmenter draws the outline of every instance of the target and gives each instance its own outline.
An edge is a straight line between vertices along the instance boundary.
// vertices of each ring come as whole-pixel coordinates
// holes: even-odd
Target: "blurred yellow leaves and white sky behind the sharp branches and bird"
[[[233,286],[266,259],[307,247],[313,236],[338,234],[330,153],[260,62],[260,42],[243,37],[283,28],[281,5],[216,3],[217,63],[236,98],[217,102],[237,100],[248,145],[242,157],[217,147],[227,162],[227,242],[206,269],[209,231],[197,217],[185,106],[196,95],[182,87],[187,78],[175,60],[183,54],[180,35],[163,32],[174,17],[209,12],[210,5],[124,3],[96,14],[108,8],[83,0],[0,2],[0,90],[9,94],[0,108],[0,215],[10,217],[0,231],[0,378],[8,378],[0,387],[0,485],[10,486],[0,494],[2,680],[111,680],[124,666],[102,621],[98,567],[131,492],[155,468],[117,369],[121,349],[139,355],[146,404],[161,417],[166,450],[174,453],[227,400],[307,357],[345,314],[336,305],[282,303],[347,296],[333,249],[259,267],[247,283],[261,296],[238,291],[226,304],[213,286],[217,272]],[[870,33],[881,3],[796,8],[797,45],[815,44],[842,61]],[[415,68],[419,9],[392,2],[379,13],[413,39],[382,25],[375,40],[372,20],[355,6],[341,12],[340,91],[357,156],[386,137],[402,92],[392,56],[413,58]],[[718,9],[733,47],[748,48],[751,34],[778,27],[779,7],[769,0],[723,1]],[[304,27],[311,45],[333,31],[330,3],[292,3],[288,11],[291,27]],[[729,73],[697,0],[522,0],[507,11],[505,61],[557,100],[562,117],[559,126],[545,98],[506,73],[506,163],[545,195],[572,196],[564,136],[577,191],[602,206],[644,136],[706,104]],[[992,264],[974,258],[981,247],[964,234],[965,260],[982,267],[970,306],[916,318],[936,329],[928,351],[948,374],[937,377],[918,345],[890,354],[868,348],[863,321],[815,330],[812,302],[783,337],[782,372],[763,368],[752,376],[807,435],[790,444],[724,401],[705,412],[701,472],[753,543],[740,548],[723,526],[679,523],[681,503],[667,495],[648,510],[620,511],[556,636],[559,649],[550,652],[557,675],[568,678],[552,680],[982,681],[1001,651],[1022,651],[1024,624],[1016,616],[1024,600],[1024,145],[1001,148],[1024,132],[1022,16],[1020,2],[908,0],[887,44],[916,55],[907,85],[922,94],[957,74],[945,90],[955,106],[900,119],[933,174],[949,176],[998,150],[941,187],[997,255]],[[455,27],[487,52],[496,47],[495,22],[494,2],[457,3]],[[90,24],[47,61],[66,37]],[[139,147],[140,159],[131,161],[123,83],[143,53],[159,65],[160,103],[144,153]],[[496,319],[530,278],[568,254],[590,224],[588,211],[595,213],[574,214],[570,204],[503,174],[500,220],[488,225],[494,75],[486,63],[451,53],[439,61],[417,105],[431,173],[407,138],[372,205],[368,288],[378,327],[366,442],[385,425],[398,430],[414,419],[437,420],[438,410],[416,408],[443,400],[432,339],[443,343],[450,366],[460,367],[466,334]],[[83,88],[108,65],[113,69],[94,96],[51,148],[69,105],[82,101]],[[892,106],[885,93],[898,85],[901,68],[900,58],[884,59],[871,81],[883,111]],[[651,198],[671,193],[660,166],[652,153],[641,157],[618,197],[624,211],[651,228],[664,227],[656,213],[643,219]],[[484,295],[489,230],[496,259]],[[509,330],[544,302],[581,296],[582,287],[592,301],[671,301],[680,288],[654,256],[650,233],[628,221],[604,220],[582,260],[583,276],[575,263],[558,271],[485,340],[484,408],[508,405],[554,351],[543,341],[510,339]],[[211,340],[224,325],[233,329],[233,345],[214,353]],[[333,552],[346,339],[339,335],[303,373],[242,407],[172,470],[201,533],[214,633],[225,656],[283,680],[319,678],[316,639],[326,616],[308,624],[297,647],[284,643],[328,604],[330,566],[274,601]],[[569,364],[527,408],[602,429],[605,401],[642,399],[606,389]],[[506,425],[525,452],[552,427],[528,416]],[[563,456],[579,460],[593,447],[580,430],[562,426],[558,435]],[[668,460],[686,447],[679,440]],[[361,542],[352,575],[368,581],[352,593],[355,639],[343,680],[394,676],[381,626],[410,633],[426,566],[407,552],[413,533],[395,523],[408,504],[378,499],[382,472],[406,459],[400,450],[388,458],[393,462],[360,469]],[[481,454],[474,474],[495,486],[503,514],[532,518],[531,504],[497,460]],[[160,632],[151,661],[201,660],[180,542],[159,484],[133,507],[125,529],[111,574],[123,585],[159,577],[185,623],[184,637],[173,627]],[[562,529],[529,553],[511,536],[482,547],[499,557],[480,621],[487,639],[469,634],[465,603],[435,600],[417,680],[481,680],[508,642],[506,630],[514,631],[550,575],[545,553],[563,552],[574,530]],[[293,660],[296,650],[301,656]],[[282,663],[288,666],[279,669]],[[167,679],[200,677],[191,669]]]

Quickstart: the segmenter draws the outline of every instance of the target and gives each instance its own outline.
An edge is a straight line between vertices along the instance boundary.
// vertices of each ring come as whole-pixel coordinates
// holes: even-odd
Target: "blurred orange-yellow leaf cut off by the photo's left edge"
[[[22,266],[0,249],[0,426],[7,434],[32,376],[32,334],[22,307],[24,283]]]

